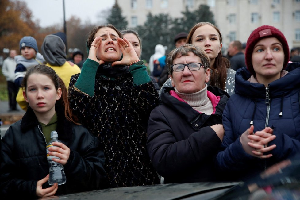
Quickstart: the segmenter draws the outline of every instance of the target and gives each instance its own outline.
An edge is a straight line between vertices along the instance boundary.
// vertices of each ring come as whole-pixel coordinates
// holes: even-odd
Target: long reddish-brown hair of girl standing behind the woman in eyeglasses
[[[220,44],[221,44],[222,43],[221,32],[215,25],[213,25],[210,22],[199,22],[198,24],[194,25],[193,28],[190,29],[190,33],[187,36],[187,43],[191,44],[192,36],[193,36],[194,32],[196,31],[196,29],[198,29],[199,27],[206,25],[206,24],[212,26],[214,29],[217,30],[217,32],[219,33],[219,36],[220,36]],[[227,79],[227,69],[230,67],[230,62],[227,58],[223,58],[221,52],[217,55],[215,60],[216,61],[215,61],[214,66],[211,66],[213,68],[211,68],[210,85],[220,87],[221,89],[224,90],[225,89],[225,81]]]

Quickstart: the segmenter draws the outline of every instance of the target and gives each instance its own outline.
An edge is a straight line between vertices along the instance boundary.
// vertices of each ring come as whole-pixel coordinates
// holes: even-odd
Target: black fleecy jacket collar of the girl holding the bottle
[[[55,110],[57,113],[57,127],[56,131],[59,134],[60,140],[66,140],[72,136],[72,127],[71,122],[68,121],[64,115],[64,109],[62,106],[55,105]],[[26,113],[21,120],[21,130],[23,133],[33,129],[36,126],[40,126],[40,123],[37,121],[37,117],[34,114],[32,108],[28,107]]]

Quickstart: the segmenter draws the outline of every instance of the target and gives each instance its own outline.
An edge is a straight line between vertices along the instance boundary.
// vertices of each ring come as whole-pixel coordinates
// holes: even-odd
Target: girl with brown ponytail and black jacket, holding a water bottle
[[[37,65],[27,70],[22,86],[29,107],[2,138],[1,197],[45,198],[100,189],[106,177],[101,143],[76,123],[62,79],[50,67]],[[49,155],[60,158],[52,160],[65,169],[67,182],[60,186],[48,184],[46,144],[52,130],[62,142],[49,149]]]

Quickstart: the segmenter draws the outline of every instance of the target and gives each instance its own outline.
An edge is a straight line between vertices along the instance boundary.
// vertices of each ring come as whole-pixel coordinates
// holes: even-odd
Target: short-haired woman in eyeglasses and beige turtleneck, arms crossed
[[[172,87],[162,89],[160,104],[148,121],[147,148],[164,183],[216,181],[214,160],[224,136],[222,113],[229,95],[207,86],[210,59],[185,44],[171,51],[167,65]]]

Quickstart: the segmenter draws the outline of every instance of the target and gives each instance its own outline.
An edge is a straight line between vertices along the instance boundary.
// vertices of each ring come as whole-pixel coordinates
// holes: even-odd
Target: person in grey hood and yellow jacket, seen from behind
[[[67,62],[65,34],[58,32],[47,35],[41,49],[46,65],[54,69],[68,88],[71,76],[80,73],[81,70],[77,65],[72,66]]]

